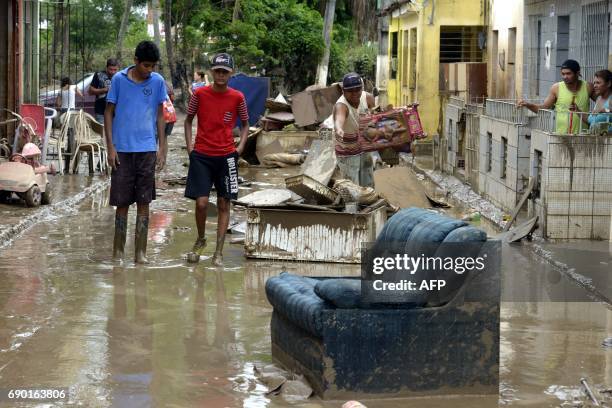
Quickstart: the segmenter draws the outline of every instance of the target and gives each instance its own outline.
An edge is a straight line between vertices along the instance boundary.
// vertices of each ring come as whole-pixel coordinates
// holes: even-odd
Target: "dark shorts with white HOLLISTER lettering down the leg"
[[[195,150],[189,155],[189,173],[185,197],[208,197],[215,186],[217,197],[238,198],[238,153],[207,156]]]

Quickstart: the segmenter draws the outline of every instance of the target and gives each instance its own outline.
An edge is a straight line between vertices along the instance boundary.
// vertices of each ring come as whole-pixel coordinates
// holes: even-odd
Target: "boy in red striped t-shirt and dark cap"
[[[212,263],[222,265],[223,243],[229,224],[230,200],[238,197],[238,157],[244,150],[249,133],[249,115],[244,95],[227,86],[234,71],[229,54],[215,55],[212,60],[212,86],[195,90],[189,101],[185,119],[185,143],[189,152],[189,172],[185,197],[194,199],[198,238],[193,245],[190,261],[197,262],[206,247],[206,214],[208,196],[214,184],[217,190],[217,247]],[[194,116],[198,117],[195,144],[191,142]],[[238,147],[234,146],[232,128],[240,117]]]

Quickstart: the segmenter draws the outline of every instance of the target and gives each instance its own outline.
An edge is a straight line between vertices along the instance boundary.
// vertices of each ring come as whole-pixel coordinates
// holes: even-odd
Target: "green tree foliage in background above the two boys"
[[[172,1],[171,24],[177,40],[174,53],[183,69],[207,67],[212,54],[227,51],[233,55],[238,70],[265,73],[286,92],[314,83],[324,52],[325,0],[240,0],[239,18],[234,21],[232,1],[162,0],[162,11],[165,1]],[[374,77],[376,46],[356,42],[357,23],[353,22],[352,9],[356,3],[336,0],[328,82],[338,81],[353,70]],[[41,3],[43,19],[49,4]],[[134,0],[133,7],[144,4],[146,0]],[[124,6],[125,0],[71,1],[70,66],[78,67],[78,72],[97,70],[114,55]],[[52,16],[53,10],[50,13]],[[55,71],[60,70],[61,58],[53,58],[52,47],[46,47],[53,43],[55,30],[50,23],[48,29],[41,31],[42,69],[46,69],[46,59],[55,59]],[[144,18],[132,12],[124,41],[125,63],[130,62],[136,44],[146,38]],[[186,74],[190,76],[191,72]]]

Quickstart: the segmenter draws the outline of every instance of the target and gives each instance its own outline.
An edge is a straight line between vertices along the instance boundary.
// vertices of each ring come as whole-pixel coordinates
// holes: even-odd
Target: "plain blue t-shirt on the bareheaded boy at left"
[[[118,152],[157,151],[157,109],[168,98],[164,78],[156,72],[141,82],[128,78],[128,70],[113,75],[106,102],[115,104],[113,145]]]

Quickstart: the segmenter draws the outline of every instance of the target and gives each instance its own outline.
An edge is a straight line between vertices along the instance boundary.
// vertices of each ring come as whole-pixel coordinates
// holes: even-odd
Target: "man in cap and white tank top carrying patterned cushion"
[[[374,107],[374,96],[363,91],[361,77],[351,72],[342,79],[342,96],[334,105],[335,151],[341,177],[361,186],[373,185],[372,155],[359,145],[359,115]]]

